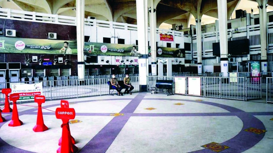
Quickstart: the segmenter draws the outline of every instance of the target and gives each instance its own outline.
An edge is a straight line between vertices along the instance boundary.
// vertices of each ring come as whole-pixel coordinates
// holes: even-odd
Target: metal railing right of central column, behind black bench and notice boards
[[[196,90],[200,90],[200,95],[192,95],[189,93],[188,80],[189,78],[193,77],[200,78],[200,89],[199,86],[194,87]],[[184,76],[184,78],[186,80],[185,95],[235,99],[243,101],[262,98],[261,81],[257,78],[198,76]],[[147,91],[154,91],[152,87],[155,87],[156,80],[173,80],[173,93],[175,93],[175,77],[166,76],[147,76]],[[273,86],[273,81],[271,82],[271,85]],[[156,89],[156,92],[165,93],[164,89]]]

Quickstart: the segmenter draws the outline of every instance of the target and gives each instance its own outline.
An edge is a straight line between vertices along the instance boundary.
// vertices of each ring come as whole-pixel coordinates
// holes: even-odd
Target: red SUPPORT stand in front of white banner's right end
[[[34,96],[34,101],[38,103],[38,113],[37,113],[37,122],[33,127],[34,132],[43,132],[48,130],[48,127],[43,123],[43,112],[42,112],[42,103],[46,101],[45,96],[36,95]]]

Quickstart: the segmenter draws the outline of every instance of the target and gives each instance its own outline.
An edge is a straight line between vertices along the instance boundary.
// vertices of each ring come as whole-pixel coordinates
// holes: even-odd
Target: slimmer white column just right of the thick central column
[[[156,75],[156,7],[154,6],[154,0],[149,0],[150,10],[150,36],[151,36],[151,64],[152,64],[152,75]]]

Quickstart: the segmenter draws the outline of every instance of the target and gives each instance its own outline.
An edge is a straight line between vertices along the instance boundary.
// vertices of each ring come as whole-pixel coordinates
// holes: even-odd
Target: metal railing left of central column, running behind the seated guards
[[[123,77],[117,78],[123,80]],[[38,81],[43,84],[43,95],[46,100],[79,98],[89,96],[101,96],[109,94],[110,78],[93,79],[72,79],[72,80],[46,80]],[[133,92],[139,92],[139,77],[130,77],[131,85],[134,86]],[[35,83],[37,81],[12,82],[12,83]],[[38,83],[37,82],[37,83]],[[10,87],[10,83],[0,83],[2,86]],[[4,94],[0,94],[0,101],[4,102]],[[28,101],[25,101],[28,102]],[[3,103],[1,103],[3,104]]]

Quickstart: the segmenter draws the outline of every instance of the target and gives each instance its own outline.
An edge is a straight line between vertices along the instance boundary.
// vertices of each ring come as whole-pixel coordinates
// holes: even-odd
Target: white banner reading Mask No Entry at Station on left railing
[[[11,93],[19,93],[20,99],[18,101],[31,101],[34,100],[35,95],[43,94],[42,82],[33,84],[10,83],[10,85]]]

